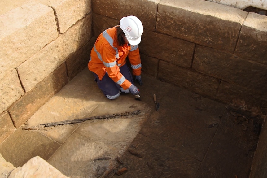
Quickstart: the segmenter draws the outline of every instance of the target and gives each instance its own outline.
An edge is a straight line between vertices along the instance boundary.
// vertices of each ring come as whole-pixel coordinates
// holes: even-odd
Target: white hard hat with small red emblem
[[[143,24],[136,16],[130,15],[121,18],[120,28],[131,45],[138,45],[140,43],[141,35],[143,34]]]

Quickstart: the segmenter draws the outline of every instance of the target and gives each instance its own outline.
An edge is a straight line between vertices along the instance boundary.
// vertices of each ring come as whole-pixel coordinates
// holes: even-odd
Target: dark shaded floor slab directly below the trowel
[[[165,97],[140,133],[202,160],[217,130],[220,118],[195,106]],[[214,124],[214,126],[212,126]]]

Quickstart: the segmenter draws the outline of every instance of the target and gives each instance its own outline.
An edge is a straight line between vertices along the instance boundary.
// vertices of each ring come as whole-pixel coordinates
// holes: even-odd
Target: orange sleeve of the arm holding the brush
[[[103,46],[101,50],[100,54],[108,76],[123,89],[128,89],[132,83],[120,73],[120,68],[116,63],[115,50],[109,45]]]

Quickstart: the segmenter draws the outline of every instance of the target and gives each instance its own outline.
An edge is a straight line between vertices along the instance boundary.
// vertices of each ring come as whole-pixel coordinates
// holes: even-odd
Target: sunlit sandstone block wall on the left
[[[94,43],[91,0],[18,3],[0,15],[0,144],[86,67]]]

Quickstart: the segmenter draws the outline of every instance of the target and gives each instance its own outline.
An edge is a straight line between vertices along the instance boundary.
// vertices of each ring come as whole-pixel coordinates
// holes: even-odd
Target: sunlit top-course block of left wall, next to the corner
[[[91,0],[52,0],[46,2],[55,11],[59,33],[64,33],[92,11]]]

